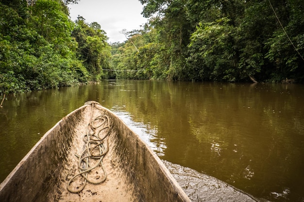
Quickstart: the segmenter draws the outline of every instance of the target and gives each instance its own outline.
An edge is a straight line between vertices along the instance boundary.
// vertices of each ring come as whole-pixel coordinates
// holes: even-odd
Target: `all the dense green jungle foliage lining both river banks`
[[[77,1],[0,0],[0,98],[102,78],[304,82],[303,0],[140,0],[148,22],[111,45],[69,19]]]

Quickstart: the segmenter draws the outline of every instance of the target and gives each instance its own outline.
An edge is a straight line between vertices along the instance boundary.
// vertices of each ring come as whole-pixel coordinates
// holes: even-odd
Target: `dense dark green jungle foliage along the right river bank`
[[[304,82],[304,0],[140,2],[149,23],[112,60],[138,71],[118,78]]]

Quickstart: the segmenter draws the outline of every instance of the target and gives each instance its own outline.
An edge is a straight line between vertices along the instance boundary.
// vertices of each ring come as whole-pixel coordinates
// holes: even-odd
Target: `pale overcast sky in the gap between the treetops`
[[[69,5],[71,20],[83,16],[85,22],[98,22],[107,33],[109,42],[123,42],[125,36],[119,31],[139,30],[147,22],[140,13],[143,6],[139,0],[80,0]]]

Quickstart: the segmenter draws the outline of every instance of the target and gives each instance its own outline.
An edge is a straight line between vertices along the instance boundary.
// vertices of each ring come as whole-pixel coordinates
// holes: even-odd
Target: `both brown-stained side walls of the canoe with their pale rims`
[[[41,195],[43,190],[50,188],[46,182],[50,181],[49,178],[52,177],[51,175],[57,171],[57,165],[54,164],[56,164],[56,162],[61,163],[59,162],[60,159],[58,157],[54,157],[55,150],[56,148],[60,148],[62,153],[68,150],[68,146],[61,145],[60,140],[73,139],[70,137],[73,135],[73,132],[69,131],[68,125],[72,124],[73,128],[73,124],[75,123],[69,122],[76,119],[78,116],[81,116],[81,113],[89,106],[92,105],[85,104],[84,106],[73,110],[38,140],[34,147],[22,158],[14,170],[11,171],[6,179],[0,184],[0,201],[28,202],[31,201],[31,198],[35,199],[37,196],[39,198],[39,195]],[[126,149],[120,149],[119,151],[113,150],[118,156],[127,155],[126,158],[124,158],[125,156],[121,157],[120,165],[125,165],[125,167],[129,165],[133,166],[133,170],[131,171],[128,171],[127,168],[124,169],[126,169],[126,172],[129,172],[129,175],[126,175],[129,176],[129,182],[133,183],[132,186],[134,186],[135,189],[138,188],[139,192],[136,193],[138,201],[191,202],[161,159],[118,117],[118,115],[101,105],[97,105],[96,102],[94,102],[94,106],[108,115],[113,124],[110,129],[110,136],[113,136],[111,139],[119,144],[114,144],[113,148],[121,147],[124,144],[127,145]],[[71,143],[71,141],[72,140],[67,140],[68,144]],[[55,149],[53,149],[52,146]],[[48,155],[50,159],[37,160],[37,156],[39,155]],[[36,176],[36,173],[40,172],[28,169],[30,165],[34,165],[36,169],[45,169],[46,171],[41,171],[42,175]],[[26,179],[22,179],[23,177]],[[41,179],[39,177],[41,177]],[[31,179],[33,179],[33,182],[31,182]],[[57,179],[51,179],[51,182],[56,180]],[[15,196],[16,194],[20,196]]]

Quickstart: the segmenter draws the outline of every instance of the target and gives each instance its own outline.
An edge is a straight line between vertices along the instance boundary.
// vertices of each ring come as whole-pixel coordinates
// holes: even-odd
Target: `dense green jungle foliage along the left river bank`
[[[77,0],[0,0],[0,97],[107,78],[111,47],[96,23],[69,19]]]

